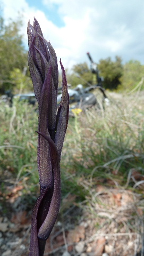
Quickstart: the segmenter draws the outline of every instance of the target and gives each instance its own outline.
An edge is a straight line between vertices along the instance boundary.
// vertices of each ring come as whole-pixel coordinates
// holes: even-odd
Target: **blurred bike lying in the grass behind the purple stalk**
[[[96,98],[96,95],[92,93],[92,91],[94,91],[95,89],[100,90],[100,92],[102,93],[103,103],[105,102],[107,105],[109,104],[105,89],[102,86],[103,78],[99,76],[99,70],[96,63],[92,60],[90,53],[87,53],[87,55],[91,62],[91,72],[96,75],[98,83],[96,85],[91,85],[87,82],[88,87],[86,88],[83,88],[82,84],[78,84],[74,89],[68,88],[70,101],[70,116],[74,116],[73,109],[81,109],[81,111],[84,111],[92,106],[96,106],[96,109],[100,109],[100,105]],[[58,88],[57,107],[59,106],[62,97],[61,89],[62,87]],[[28,103],[32,105],[35,105],[37,102],[34,93],[22,93],[13,95],[11,91],[7,91],[5,93],[5,97],[2,98],[2,101],[8,101],[10,103],[9,106],[12,106],[13,100],[16,98],[19,98],[20,101],[28,101]]]

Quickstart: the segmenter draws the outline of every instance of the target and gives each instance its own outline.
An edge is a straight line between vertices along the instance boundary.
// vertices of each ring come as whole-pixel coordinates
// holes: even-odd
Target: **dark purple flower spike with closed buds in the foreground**
[[[64,67],[62,99],[57,111],[58,65],[55,51],[35,19],[28,23],[28,63],[33,89],[39,105],[38,171],[40,196],[32,209],[29,256],[43,256],[46,239],[60,209],[60,160],[69,117],[69,94]]]

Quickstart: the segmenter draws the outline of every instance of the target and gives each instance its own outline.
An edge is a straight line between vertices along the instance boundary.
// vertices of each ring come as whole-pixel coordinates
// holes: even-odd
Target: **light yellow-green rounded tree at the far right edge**
[[[123,67],[123,76],[121,77],[122,89],[132,90],[144,77],[144,66],[140,61],[130,60]]]

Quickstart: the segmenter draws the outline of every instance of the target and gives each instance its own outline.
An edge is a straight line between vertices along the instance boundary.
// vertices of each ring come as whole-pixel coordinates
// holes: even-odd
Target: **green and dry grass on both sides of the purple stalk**
[[[135,170],[141,175],[144,172],[142,101],[142,97],[121,96],[105,112],[87,110],[86,114],[70,118],[61,161],[63,196],[72,193],[83,199],[89,191],[83,190],[82,182],[93,178],[98,184],[110,179],[118,186],[133,189],[135,181],[130,179],[126,185],[129,172]],[[19,181],[28,177],[29,190],[24,193],[36,193],[33,187],[38,183],[38,175],[34,174],[37,173],[37,111],[27,102],[17,100],[12,108],[1,103],[0,111],[1,173],[9,166]]]

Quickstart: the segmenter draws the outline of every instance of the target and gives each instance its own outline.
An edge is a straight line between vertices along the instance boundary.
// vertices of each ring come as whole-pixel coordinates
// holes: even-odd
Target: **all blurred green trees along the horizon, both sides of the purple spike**
[[[5,26],[4,19],[0,18],[0,94],[6,90],[18,93],[32,90],[30,79],[27,51],[24,49],[22,35],[19,28],[22,21],[10,21]],[[109,90],[131,91],[141,81],[144,66],[137,60],[130,60],[122,64],[122,59],[118,56],[112,61],[110,57],[99,60],[97,63],[99,75],[104,77],[103,86]],[[91,73],[89,65],[78,63],[69,73],[66,70],[67,82],[72,87],[82,84],[86,87],[89,84],[96,84],[96,76]],[[61,78],[60,78],[61,83]],[[143,88],[143,82],[142,82]]]

